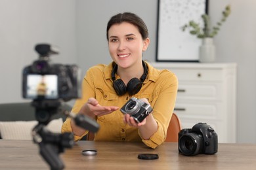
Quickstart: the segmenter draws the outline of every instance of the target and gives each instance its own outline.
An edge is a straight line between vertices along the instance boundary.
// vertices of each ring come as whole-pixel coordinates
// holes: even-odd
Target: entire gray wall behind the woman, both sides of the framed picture
[[[214,39],[217,62],[238,63],[238,143],[256,143],[256,1],[211,1],[212,24],[227,4],[232,13]],[[82,74],[96,63],[109,63],[106,24],[117,12],[135,12],[144,19],[151,39],[144,59],[155,61],[157,7],[157,0],[0,0],[0,103],[24,101],[20,74],[37,58],[37,42],[60,46],[53,61],[77,63]]]

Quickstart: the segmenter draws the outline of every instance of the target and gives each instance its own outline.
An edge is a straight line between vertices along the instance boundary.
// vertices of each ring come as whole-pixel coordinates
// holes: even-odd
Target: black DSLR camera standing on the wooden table
[[[179,132],[179,152],[185,156],[215,154],[218,150],[218,136],[206,123],[198,123],[192,129]]]

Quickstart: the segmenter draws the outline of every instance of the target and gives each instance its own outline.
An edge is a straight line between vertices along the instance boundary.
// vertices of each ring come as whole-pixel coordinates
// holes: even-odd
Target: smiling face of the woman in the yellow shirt
[[[143,40],[139,29],[128,22],[114,24],[108,30],[110,56],[119,67],[141,65],[142,52],[148,48],[150,40]]]

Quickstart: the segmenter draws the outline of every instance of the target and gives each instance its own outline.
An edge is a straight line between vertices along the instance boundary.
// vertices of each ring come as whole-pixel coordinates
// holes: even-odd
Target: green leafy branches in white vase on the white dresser
[[[189,29],[191,35],[195,35],[199,39],[202,39],[202,46],[200,46],[200,61],[212,62],[215,60],[215,46],[213,45],[213,37],[219,32],[221,25],[226,21],[226,18],[230,15],[230,5],[227,5],[222,12],[222,18],[217,24],[211,28],[210,17],[208,14],[203,14],[203,27],[200,24],[191,20],[188,24],[181,27],[182,31]]]

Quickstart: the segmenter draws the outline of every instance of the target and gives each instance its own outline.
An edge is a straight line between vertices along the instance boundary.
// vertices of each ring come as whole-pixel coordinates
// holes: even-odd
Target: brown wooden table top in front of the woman
[[[96,149],[96,156],[82,150]],[[138,154],[158,154],[158,160],[139,160]],[[65,169],[256,169],[256,144],[219,144],[217,154],[182,156],[177,143],[156,149],[143,143],[79,141],[60,154]],[[0,140],[0,169],[49,169],[32,141]]]

